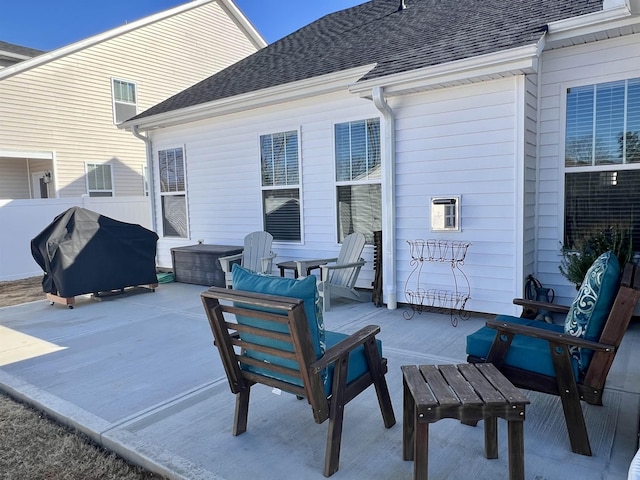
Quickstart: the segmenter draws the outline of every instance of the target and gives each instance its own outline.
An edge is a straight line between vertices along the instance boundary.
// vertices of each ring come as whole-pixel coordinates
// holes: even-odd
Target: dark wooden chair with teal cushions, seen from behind
[[[344,406],[373,385],[386,428],[395,423],[377,325],[352,335],[325,331],[315,277],[282,278],[233,267],[233,290],[202,293],[209,325],[236,395],[233,435],[247,429],[254,384],[306,398],[329,420],[324,475],[338,470]]]

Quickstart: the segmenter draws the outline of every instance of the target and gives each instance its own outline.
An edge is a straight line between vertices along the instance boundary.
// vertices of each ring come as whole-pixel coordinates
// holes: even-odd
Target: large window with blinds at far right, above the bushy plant
[[[640,250],[640,79],[567,90],[564,245],[609,227]]]

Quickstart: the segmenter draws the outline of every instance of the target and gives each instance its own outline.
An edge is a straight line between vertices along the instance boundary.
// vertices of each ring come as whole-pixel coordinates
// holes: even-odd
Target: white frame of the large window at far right
[[[602,164],[602,165],[588,165],[588,166],[567,166],[566,165],[566,148],[567,148],[567,100],[568,100],[568,91],[571,88],[578,87],[586,87],[586,86],[597,86],[606,83],[618,82],[623,80],[636,80],[639,79],[640,75],[631,75],[628,74],[620,74],[620,75],[605,75],[600,77],[593,78],[583,78],[581,80],[564,82],[560,84],[560,128],[559,128],[559,139],[558,139],[558,171],[559,171],[559,179],[558,179],[558,199],[559,206],[561,207],[558,211],[557,221],[558,221],[558,232],[559,232],[559,240],[562,245],[564,245],[566,241],[566,231],[565,231],[565,221],[566,221],[566,213],[567,213],[567,197],[566,197],[566,178],[568,174],[571,173],[584,173],[584,172],[600,172],[606,173],[611,171],[629,171],[629,170],[640,170],[640,163],[621,163],[621,164]],[[595,115],[594,115],[595,117]],[[594,118],[595,122],[595,118]],[[558,255],[561,255],[561,250],[558,250]]]

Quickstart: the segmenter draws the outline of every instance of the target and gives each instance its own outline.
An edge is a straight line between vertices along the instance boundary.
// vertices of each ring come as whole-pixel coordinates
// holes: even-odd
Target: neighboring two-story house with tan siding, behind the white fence
[[[231,0],[51,52],[0,42],[0,199],[144,195],[145,144],[117,124],[264,46]]]

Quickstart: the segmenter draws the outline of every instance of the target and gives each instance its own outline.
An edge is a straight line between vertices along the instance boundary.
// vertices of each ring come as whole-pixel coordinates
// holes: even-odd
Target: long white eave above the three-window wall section
[[[204,120],[206,118],[269,107],[312,96],[345,91],[350,84],[358,78],[361,78],[374,67],[375,64],[364,65],[327,75],[311,77],[298,82],[285,83],[275,87],[201,103],[179,110],[128,120],[119,124],[118,128],[131,129],[135,126],[139,131],[149,131]]]

